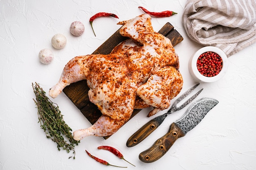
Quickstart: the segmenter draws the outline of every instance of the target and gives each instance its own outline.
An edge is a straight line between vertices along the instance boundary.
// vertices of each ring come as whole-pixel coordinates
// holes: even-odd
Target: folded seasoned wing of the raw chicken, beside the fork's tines
[[[168,108],[171,99],[180,93],[182,84],[183,80],[180,72],[172,66],[165,66],[151,75],[146,83],[139,86],[137,95],[144,101],[144,104],[154,108],[148,113],[148,117]],[[137,101],[135,103],[135,108],[145,107],[138,105]]]

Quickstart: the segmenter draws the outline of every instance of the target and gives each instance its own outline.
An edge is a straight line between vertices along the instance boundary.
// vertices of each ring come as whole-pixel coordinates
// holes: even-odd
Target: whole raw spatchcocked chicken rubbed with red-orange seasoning
[[[133,109],[153,107],[148,116],[170,106],[183,85],[179,59],[171,41],[156,33],[150,15],[119,22],[128,40],[108,55],[83,55],[71,59],[49,95],[57,97],[69,84],[87,80],[88,96],[101,111],[89,128],[74,131],[74,139],[109,136],[117,132]]]

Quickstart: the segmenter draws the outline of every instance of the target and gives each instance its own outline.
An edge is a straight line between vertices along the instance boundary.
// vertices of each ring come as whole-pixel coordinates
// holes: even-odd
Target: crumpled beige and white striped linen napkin
[[[228,57],[256,42],[256,0],[188,0],[182,20],[189,38]]]

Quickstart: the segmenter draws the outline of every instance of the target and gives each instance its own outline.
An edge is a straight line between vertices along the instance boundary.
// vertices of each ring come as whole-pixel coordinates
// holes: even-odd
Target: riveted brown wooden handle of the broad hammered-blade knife
[[[166,135],[157,139],[150,148],[141,152],[139,159],[145,163],[157,161],[171,148],[178,138],[184,136],[185,134],[182,130],[175,123],[172,123]]]

